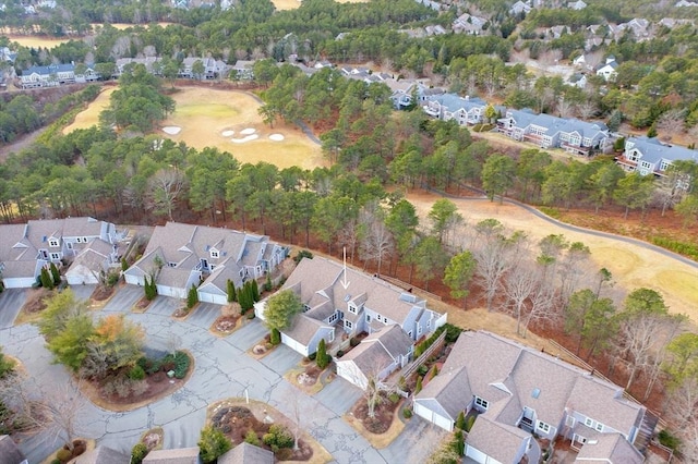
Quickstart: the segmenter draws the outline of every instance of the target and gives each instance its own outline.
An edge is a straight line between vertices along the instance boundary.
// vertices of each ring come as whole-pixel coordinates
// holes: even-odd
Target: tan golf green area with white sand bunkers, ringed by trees
[[[231,152],[242,163],[266,161],[281,169],[313,169],[325,163],[320,146],[299,127],[265,125],[257,114],[260,103],[249,94],[183,87],[172,98],[177,102],[174,114],[161,124],[168,130],[181,127],[177,134],[161,132],[172,141],[183,141],[196,149],[216,147]],[[281,141],[274,139],[281,138],[279,135]]]

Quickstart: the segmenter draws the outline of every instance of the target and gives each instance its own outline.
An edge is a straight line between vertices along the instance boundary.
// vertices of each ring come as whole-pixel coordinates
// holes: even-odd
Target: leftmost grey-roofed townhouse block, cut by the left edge
[[[28,221],[0,225],[0,277],[5,289],[37,283],[43,268],[69,266],[69,284],[97,283],[119,267],[125,231],[93,218]]]

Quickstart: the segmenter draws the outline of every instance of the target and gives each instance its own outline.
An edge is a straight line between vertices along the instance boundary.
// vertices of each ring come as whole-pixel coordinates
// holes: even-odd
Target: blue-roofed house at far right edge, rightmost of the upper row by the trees
[[[686,160],[698,162],[698,151],[676,145],[664,145],[655,137],[628,137],[625,141],[623,155],[616,158],[617,163],[627,172],[639,172],[641,175],[654,174],[665,176],[674,161]],[[688,184],[683,185],[688,188]]]

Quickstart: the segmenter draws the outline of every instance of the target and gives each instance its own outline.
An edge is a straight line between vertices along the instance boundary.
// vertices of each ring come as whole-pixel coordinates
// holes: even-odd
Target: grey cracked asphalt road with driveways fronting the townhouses
[[[181,347],[194,355],[194,374],[172,395],[131,412],[112,413],[88,404],[81,416],[79,431],[82,436],[130,452],[141,434],[160,426],[165,429],[165,448],[193,447],[204,425],[206,407],[220,399],[244,396],[246,390],[251,399],[267,402],[288,417],[292,417],[292,399],[298,398],[301,411],[308,412],[301,418],[303,428],[338,463],[419,463],[425,461],[430,449],[418,445],[418,436],[429,435],[435,441],[443,437],[434,426],[423,423],[422,426],[408,427],[401,444],[375,450],[341,419],[341,414],[361,396],[358,388],[335,379],[315,396],[308,396],[282,378],[285,371],[298,364],[300,355],[280,346],[257,362],[244,353],[266,332],[260,321],[250,321],[227,338],[216,338],[206,327],[213,309],[204,306],[205,310],[198,318],[192,318],[195,312],[190,316],[191,320],[177,320],[169,317],[168,312],[181,303],[158,297],[146,313],[131,313],[131,307],[142,295],[142,289],[122,288],[96,316],[125,314],[144,328],[146,343],[153,349],[163,350],[174,338],[181,342]],[[0,344],[7,353],[22,359],[37,384],[50,389],[70,381],[62,366],[51,364],[50,353],[34,326],[0,329]],[[431,432],[425,434],[423,428]],[[29,463],[38,463],[57,448],[57,442],[56,439],[37,436],[21,443],[20,448]]]

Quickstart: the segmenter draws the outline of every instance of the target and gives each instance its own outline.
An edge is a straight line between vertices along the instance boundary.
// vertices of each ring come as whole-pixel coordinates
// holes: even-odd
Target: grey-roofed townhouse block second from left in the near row
[[[159,295],[178,298],[193,285],[198,301],[225,305],[228,280],[240,288],[272,272],[287,254],[265,235],[168,222],[155,228],[143,257],[123,274],[133,285],[154,278]]]

